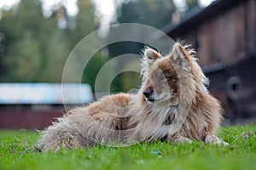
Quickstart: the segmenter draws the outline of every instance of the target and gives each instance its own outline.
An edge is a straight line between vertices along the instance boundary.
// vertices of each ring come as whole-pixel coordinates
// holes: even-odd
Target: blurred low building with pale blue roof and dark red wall
[[[0,83],[0,128],[43,129],[65,109],[86,105],[92,99],[90,85],[84,83]]]

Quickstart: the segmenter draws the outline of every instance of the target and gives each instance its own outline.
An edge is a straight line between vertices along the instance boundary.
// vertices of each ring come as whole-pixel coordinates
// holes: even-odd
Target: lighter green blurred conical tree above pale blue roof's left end
[[[42,63],[38,41],[32,37],[30,31],[26,31],[24,38],[12,43],[12,47],[13,50],[10,51],[5,63],[9,65],[7,81],[13,81],[12,77],[15,77],[16,82],[36,82]]]

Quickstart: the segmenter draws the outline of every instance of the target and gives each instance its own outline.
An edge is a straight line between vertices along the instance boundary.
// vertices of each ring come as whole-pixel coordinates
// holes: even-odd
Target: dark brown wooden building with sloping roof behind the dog
[[[256,1],[217,0],[194,8],[163,31],[185,40],[197,51],[231,120],[256,116]]]

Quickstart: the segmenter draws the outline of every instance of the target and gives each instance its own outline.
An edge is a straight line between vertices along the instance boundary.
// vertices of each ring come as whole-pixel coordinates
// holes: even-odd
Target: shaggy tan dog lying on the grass
[[[227,144],[215,135],[221,106],[205,87],[208,80],[195,51],[177,42],[166,56],[146,48],[142,61],[137,94],[109,95],[68,111],[41,132],[38,149],[191,139]]]

